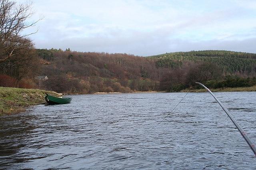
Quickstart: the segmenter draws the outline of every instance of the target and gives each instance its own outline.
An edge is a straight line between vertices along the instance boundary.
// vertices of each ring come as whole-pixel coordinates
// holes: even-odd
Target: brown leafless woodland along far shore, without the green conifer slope
[[[77,52],[57,49],[37,49],[37,51],[46,63],[41,74],[49,78],[44,82],[48,83],[46,85],[48,90],[54,89],[53,86],[62,77],[63,81],[58,81],[58,86],[68,85],[75,93],[180,91],[190,86],[192,77],[196,79],[202,77],[200,80],[207,81],[216,78],[217,76],[214,75],[219,75],[216,74],[217,71],[220,71],[220,76],[222,73],[214,64],[203,61],[183,61],[179,67],[171,68],[157,67],[156,58],[126,53]],[[197,67],[205,70],[197,71]],[[204,77],[206,79],[203,79]],[[70,81],[77,80],[76,85],[70,84]],[[79,84],[82,85],[82,90]],[[56,91],[71,93],[70,89],[56,89]]]

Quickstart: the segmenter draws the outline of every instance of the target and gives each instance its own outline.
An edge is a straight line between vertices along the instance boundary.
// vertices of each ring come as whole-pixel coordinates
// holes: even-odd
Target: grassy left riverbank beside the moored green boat
[[[52,91],[0,87],[0,116],[20,113],[28,106],[43,104],[45,92],[60,96]]]

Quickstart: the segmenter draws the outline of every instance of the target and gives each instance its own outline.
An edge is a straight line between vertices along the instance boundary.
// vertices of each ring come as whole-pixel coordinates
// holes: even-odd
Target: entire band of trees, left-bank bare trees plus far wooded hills
[[[212,88],[255,85],[254,53],[206,50],[142,57],[35,49],[30,34],[22,34],[41,20],[26,22],[33,15],[31,5],[0,0],[0,86],[85,94],[180,91],[196,88],[195,81]]]

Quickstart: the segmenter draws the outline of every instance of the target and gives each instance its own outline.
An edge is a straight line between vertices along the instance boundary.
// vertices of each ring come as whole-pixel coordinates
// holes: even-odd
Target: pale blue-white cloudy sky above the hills
[[[26,1],[26,0],[24,0]],[[19,2],[22,2],[20,0]],[[256,53],[256,0],[32,0],[36,48],[139,56]]]

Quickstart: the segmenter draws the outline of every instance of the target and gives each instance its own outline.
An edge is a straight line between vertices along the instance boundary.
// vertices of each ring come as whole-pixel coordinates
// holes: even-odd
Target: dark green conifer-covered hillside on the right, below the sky
[[[154,55],[157,58],[158,67],[179,68],[183,62],[206,61],[216,63],[226,75],[240,75],[242,77],[254,77],[256,72],[256,54],[234,51],[190,51],[175,52],[161,55]]]

